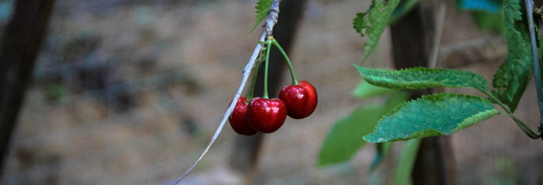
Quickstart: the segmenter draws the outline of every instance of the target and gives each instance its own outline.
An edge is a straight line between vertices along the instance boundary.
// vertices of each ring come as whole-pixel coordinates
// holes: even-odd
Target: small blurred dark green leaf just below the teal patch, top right
[[[481,30],[505,34],[503,8],[496,13],[472,11],[472,18]]]

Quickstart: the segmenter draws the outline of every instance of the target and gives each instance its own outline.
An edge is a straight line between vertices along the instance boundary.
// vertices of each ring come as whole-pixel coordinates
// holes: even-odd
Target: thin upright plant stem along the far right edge
[[[543,91],[541,90],[541,73],[539,72],[538,47],[536,43],[536,32],[534,30],[533,7],[531,0],[524,0],[526,4],[526,16],[528,17],[529,39],[534,61],[534,72],[536,73],[536,90],[539,102],[539,132],[543,132]]]

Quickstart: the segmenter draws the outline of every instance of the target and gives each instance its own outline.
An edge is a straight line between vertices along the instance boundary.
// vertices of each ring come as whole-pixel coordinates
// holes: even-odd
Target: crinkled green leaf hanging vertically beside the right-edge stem
[[[492,79],[497,88],[492,94],[513,112],[533,76],[533,62],[524,1],[504,0],[503,5],[508,56]]]

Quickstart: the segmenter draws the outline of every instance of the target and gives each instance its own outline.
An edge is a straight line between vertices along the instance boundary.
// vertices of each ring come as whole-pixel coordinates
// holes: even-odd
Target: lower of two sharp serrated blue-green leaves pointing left
[[[452,134],[498,114],[500,111],[482,97],[452,93],[423,96],[387,113],[364,139],[383,143]]]

